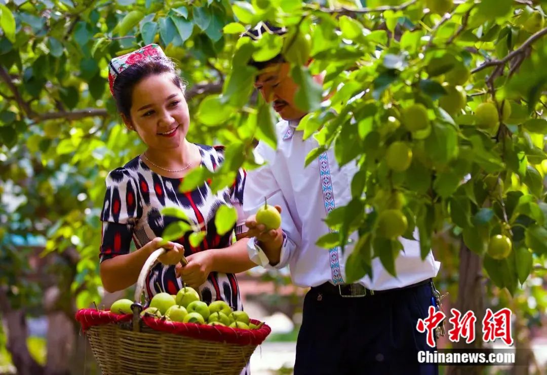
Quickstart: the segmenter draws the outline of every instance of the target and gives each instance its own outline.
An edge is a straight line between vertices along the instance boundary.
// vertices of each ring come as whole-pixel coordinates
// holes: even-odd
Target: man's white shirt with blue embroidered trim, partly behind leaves
[[[348,245],[342,255],[340,248],[324,249],[315,243],[329,232],[323,221],[337,207],[351,200],[351,180],[358,171],[356,162],[339,167],[330,148],[318,159],[304,167],[306,155],[318,147],[313,137],[303,139],[304,133],[295,131],[298,123],[283,120],[278,122],[277,150],[260,142],[255,150],[265,161],[258,169],[248,171],[243,192],[243,210],[251,215],[257,212],[264,199],[268,204],[282,208],[282,230],[284,242],[281,261],[275,268],[289,265],[293,283],[298,286],[318,286],[325,282],[345,283],[345,265],[352,246]],[[417,231],[415,232],[417,237]],[[350,238],[357,240],[357,234]],[[378,258],[373,259],[373,279],[365,276],[359,283],[372,290],[385,290],[411,285],[437,276],[440,262],[429,252],[422,260],[420,244],[399,238],[403,244],[395,260],[397,277],[389,274]],[[272,268],[264,252],[249,241],[249,256],[258,265]],[[343,256],[343,259],[342,259]]]

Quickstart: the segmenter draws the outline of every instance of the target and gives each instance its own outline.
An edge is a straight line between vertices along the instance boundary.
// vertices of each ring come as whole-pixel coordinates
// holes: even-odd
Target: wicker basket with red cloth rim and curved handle
[[[269,335],[269,326],[242,330],[140,316],[144,280],[164,252],[154,251],[144,263],[137,280],[133,314],[95,309],[82,309],[76,314],[102,373],[240,374],[254,349]]]

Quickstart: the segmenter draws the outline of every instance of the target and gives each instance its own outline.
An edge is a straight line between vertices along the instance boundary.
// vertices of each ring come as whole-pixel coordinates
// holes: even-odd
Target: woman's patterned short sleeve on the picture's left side
[[[101,262],[128,254],[137,220],[136,185],[129,172],[117,168],[106,178],[106,193],[101,212]]]

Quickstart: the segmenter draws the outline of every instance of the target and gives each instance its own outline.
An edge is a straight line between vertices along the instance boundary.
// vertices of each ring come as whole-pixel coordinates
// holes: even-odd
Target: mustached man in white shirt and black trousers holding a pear
[[[283,32],[269,26],[257,27],[252,34],[260,37],[266,31]],[[294,284],[311,287],[304,301],[294,373],[437,374],[437,366],[417,362],[417,351],[431,348],[416,323],[427,317],[432,304],[430,279],[437,275],[439,263],[431,253],[422,261],[419,244],[401,238],[405,251],[395,262],[397,278],[374,259],[373,279],[346,284],[347,254],[342,259],[339,248],[325,250],[315,242],[329,232],[323,221],[328,212],[351,200],[351,180],[358,167],[350,163],[340,168],[333,149],[304,167],[306,155],[318,144],[295,130],[306,113],[294,104],[298,86],[289,77],[289,64],[281,55],[252,64],[259,69],[255,87],[283,120],[276,126],[277,150],[260,142],[257,151],[265,165],[247,174],[243,209],[251,215],[246,222],[248,250],[249,257],[266,268],[289,265]],[[314,79],[322,83],[321,76]],[[278,230],[266,231],[252,215],[265,198],[281,212]]]

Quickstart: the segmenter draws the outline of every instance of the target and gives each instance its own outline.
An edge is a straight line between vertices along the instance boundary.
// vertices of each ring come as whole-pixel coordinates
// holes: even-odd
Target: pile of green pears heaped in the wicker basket
[[[118,300],[110,307],[114,314],[132,314],[133,301]],[[158,293],[152,297],[150,306],[141,312],[141,317],[156,317],[180,323],[195,323],[220,325],[240,329],[257,329],[262,326],[255,325],[249,320],[249,315],[243,311],[234,311],[224,301],[207,303],[200,301],[200,295],[190,286],[184,286],[176,295]]]

